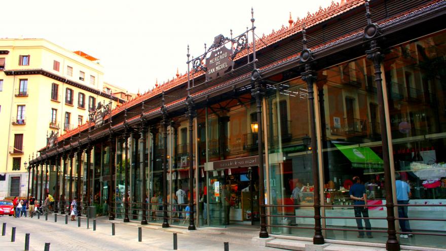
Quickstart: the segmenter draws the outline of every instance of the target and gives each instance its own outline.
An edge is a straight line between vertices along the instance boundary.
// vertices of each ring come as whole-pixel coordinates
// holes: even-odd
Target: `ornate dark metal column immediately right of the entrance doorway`
[[[255,65],[254,65],[255,67]],[[258,123],[258,193],[259,193],[259,204],[260,204],[260,238],[268,238],[267,231],[267,218],[265,213],[265,178],[264,178],[264,161],[263,161],[263,118],[262,118],[262,99],[265,95],[264,87],[261,85],[260,81],[262,76],[260,70],[254,68],[251,73],[251,80],[254,82],[254,89],[251,90],[251,96],[255,97],[255,103],[257,107],[257,123]]]

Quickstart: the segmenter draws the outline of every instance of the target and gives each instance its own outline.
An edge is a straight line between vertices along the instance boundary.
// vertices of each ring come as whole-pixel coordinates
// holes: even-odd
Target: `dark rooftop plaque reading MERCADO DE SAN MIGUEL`
[[[221,34],[217,35],[213,45],[217,49],[210,51],[209,57],[206,58],[206,80],[222,76],[230,66],[233,66],[232,51],[225,47],[225,37]]]

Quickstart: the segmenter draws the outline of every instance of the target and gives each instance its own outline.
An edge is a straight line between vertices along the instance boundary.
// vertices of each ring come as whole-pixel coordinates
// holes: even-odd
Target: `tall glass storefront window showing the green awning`
[[[323,148],[326,238],[357,241],[385,234],[354,231],[386,229],[385,220],[337,219],[336,217],[385,218],[382,142],[373,65],[365,58],[319,71],[317,81]],[[358,184],[355,184],[358,183]],[[355,185],[354,185],[355,184]],[[353,186],[354,185],[354,186]],[[365,191],[365,197],[363,192]],[[353,195],[351,198],[350,194]],[[330,206],[334,205],[334,206]],[[374,241],[385,241],[375,238]]]

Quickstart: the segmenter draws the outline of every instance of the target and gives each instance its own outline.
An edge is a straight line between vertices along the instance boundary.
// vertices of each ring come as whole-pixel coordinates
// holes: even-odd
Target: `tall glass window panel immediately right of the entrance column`
[[[277,76],[282,78],[282,76]],[[276,77],[274,77],[276,78]],[[312,152],[307,85],[301,78],[271,85],[266,97],[271,233],[312,237]],[[283,205],[281,207],[280,205]],[[290,226],[302,229],[287,228]]]

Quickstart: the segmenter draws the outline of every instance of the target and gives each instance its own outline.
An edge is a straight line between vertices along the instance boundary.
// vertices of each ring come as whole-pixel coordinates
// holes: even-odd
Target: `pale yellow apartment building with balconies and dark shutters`
[[[82,51],[45,39],[0,39],[0,199],[26,196],[28,159],[48,135],[86,123],[98,102],[115,107],[131,97],[103,78],[98,59]]]

